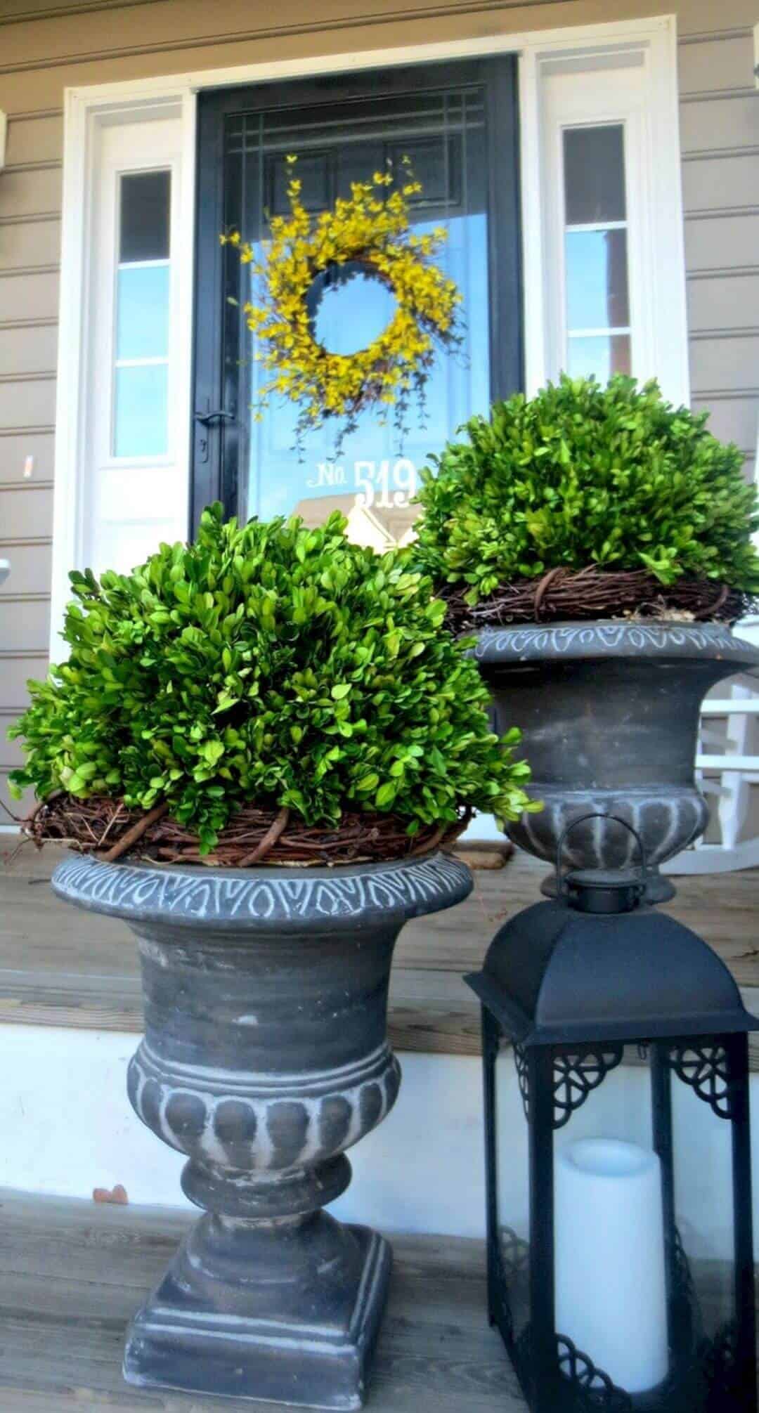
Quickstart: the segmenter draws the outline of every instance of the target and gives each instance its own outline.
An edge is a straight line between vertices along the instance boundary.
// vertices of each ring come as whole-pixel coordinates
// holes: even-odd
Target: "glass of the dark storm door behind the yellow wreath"
[[[297,512],[319,524],[335,509],[349,534],[383,550],[413,533],[410,504],[420,468],[455,428],[489,406],[488,168],[483,89],[352,99],[317,107],[236,113],[226,120],[226,227],[237,226],[260,252],[266,212],[287,215],[287,157],[295,154],[301,199],[311,212],[351,195],[351,182],[370,181],[389,162],[410,158],[423,191],[413,198],[413,229],[444,225],[448,240],[435,256],[464,295],[464,345],[441,353],[425,384],[425,407],[413,401],[408,431],[399,435],[393,408],[367,408],[336,454],[338,428],[310,432],[295,447],[298,407],[269,398],[256,420],[266,373],[239,311],[226,341],[225,408],[239,408],[239,444],[225,428],[225,458],[239,466],[239,512],[269,519]],[[225,249],[226,291],[256,302],[257,281]],[[317,333],[326,348],[349,356],[366,348],[393,314],[393,297],[360,270],[326,285],[317,309]],[[228,326],[229,329],[229,326]]]

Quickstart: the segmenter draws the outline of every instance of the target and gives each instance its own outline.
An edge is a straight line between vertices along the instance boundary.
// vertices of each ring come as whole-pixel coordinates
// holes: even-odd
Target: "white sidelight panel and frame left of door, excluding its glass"
[[[153,92],[126,89],[119,83],[65,95],[52,661],[61,657],[69,569],[98,564],[98,533],[105,531],[107,541],[109,527],[120,520],[151,543],[151,528],[158,541],[182,534],[187,524],[195,100],[172,81]],[[158,167],[171,171],[168,447],[161,456],[117,458],[110,431],[119,177]]]

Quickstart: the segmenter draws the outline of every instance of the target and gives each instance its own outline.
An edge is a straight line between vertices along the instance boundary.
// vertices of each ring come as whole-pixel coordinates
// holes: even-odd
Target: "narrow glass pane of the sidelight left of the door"
[[[112,454],[168,451],[171,172],[119,178]]]

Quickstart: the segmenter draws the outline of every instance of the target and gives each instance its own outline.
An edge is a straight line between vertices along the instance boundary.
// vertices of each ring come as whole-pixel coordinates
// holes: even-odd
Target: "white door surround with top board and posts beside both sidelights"
[[[86,346],[90,317],[90,219],[93,189],[93,137],[98,124],[134,122],[157,109],[181,114],[182,123],[182,244],[180,270],[180,345],[184,366],[178,370],[178,447],[189,468],[189,394],[192,348],[192,267],[195,194],[196,93],[205,88],[240,86],[377,66],[428,64],[496,54],[517,54],[520,66],[522,212],[524,240],[526,386],[534,391],[548,376],[546,329],[544,199],[541,191],[541,65],[557,58],[585,61],[592,69],[609,51],[643,51],[650,64],[652,146],[656,147],[656,192],[661,227],[667,232],[667,274],[671,300],[667,343],[673,350],[666,379],[667,394],[688,398],[687,321],[677,122],[676,16],[656,16],[615,24],[578,25],[527,34],[493,34],[473,40],[421,44],[305,59],[280,59],[237,68],[206,69],[167,78],[69,88],[64,105],[64,229],[61,256],[59,362],[55,413],[55,489],[52,544],[51,657],[59,654],[59,627],[68,602],[68,571],[79,562],[85,486],[82,485],[83,410],[88,389]]]

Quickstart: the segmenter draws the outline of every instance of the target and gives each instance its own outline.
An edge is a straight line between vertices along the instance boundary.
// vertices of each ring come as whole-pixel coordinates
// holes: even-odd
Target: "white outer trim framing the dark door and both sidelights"
[[[493,34],[476,40],[423,44],[359,54],[319,55],[208,69],[171,78],[71,88],[65,92],[64,236],[61,257],[61,324],[55,431],[55,490],[52,545],[51,656],[59,657],[58,633],[69,598],[68,571],[85,568],[83,526],[93,509],[86,456],[92,421],[92,328],[98,319],[93,268],[93,212],[98,199],[98,150],[103,127],[116,123],[175,117],[181,133],[174,161],[180,239],[175,260],[175,318],[172,333],[171,445],[178,478],[177,495],[189,486],[189,425],[192,377],[192,237],[195,229],[196,96],[205,88],[242,86],[307,76],[355,72],[377,66],[428,64],[495,54],[519,55],[522,143],[522,220],[524,290],[524,380],[534,393],[554,377],[557,285],[551,252],[555,191],[547,179],[550,112],[547,83],[557,65],[574,66],[592,82],[620,57],[642,78],[640,124],[636,138],[642,164],[645,232],[640,237],[637,288],[650,280],[647,314],[640,315],[646,356],[640,370],[656,372],[667,397],[688,401],[686,266],[680,178],[676,16],[656,16],[618,24],[567,27],[530,34]],[[582,85],[579,85],[582,88]],[[154,165],[163,165],[157,157]],[[553,191],[553,196],[551,196]],[[646,254],[647,252],[647,254]],[[656,259],[654,259],[656,252]],[[554,317],[555,318],[555,317]],[[646,322],[647,321],[647,322]],[[88,353],[89,350],[89,353]],[[637,365],[636,365],[637,372]],[[479,831],[482,832],[482,831]]]

